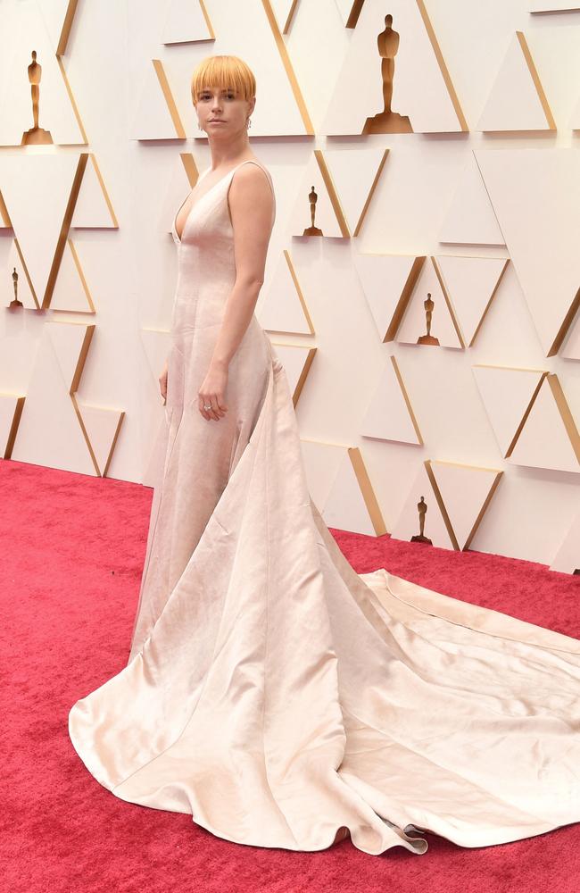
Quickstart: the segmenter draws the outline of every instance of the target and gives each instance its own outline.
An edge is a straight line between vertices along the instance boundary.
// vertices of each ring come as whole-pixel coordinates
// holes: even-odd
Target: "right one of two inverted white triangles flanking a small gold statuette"
[[[463,340],[471,346],[509,262],[504,257],[437,255],[435,263],[441,271]]]

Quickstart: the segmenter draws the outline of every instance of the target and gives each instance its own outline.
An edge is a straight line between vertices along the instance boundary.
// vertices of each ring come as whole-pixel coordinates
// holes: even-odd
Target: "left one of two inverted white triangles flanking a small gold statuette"
[[[396,327],[395,315],[402,313],[406,287],[417,258],[415,255],[360,255],[354,252],[352,261],[378,336],[381,341],[386,341],[388,330]],[[391,335],[394,337],[393,331]]]

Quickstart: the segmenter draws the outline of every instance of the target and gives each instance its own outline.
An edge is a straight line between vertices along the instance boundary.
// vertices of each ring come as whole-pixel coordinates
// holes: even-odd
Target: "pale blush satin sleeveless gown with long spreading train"
[[[311,501],[286,373],[255,316],[228,412],[199,413],[235,280],[234,171],[181,241],[173,227],[130,654],[70,709],[75,749],[116,797],[255,847],[324,849],[346,827],[369,854],[421,854],[425,830],[484,847],[580,821],[580,641],[354,572]]]

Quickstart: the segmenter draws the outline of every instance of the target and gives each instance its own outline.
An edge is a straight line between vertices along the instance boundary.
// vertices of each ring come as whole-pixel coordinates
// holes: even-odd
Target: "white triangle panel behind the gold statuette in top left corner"
[[[22,134],[34,126],[28,77],[33,49],[40,66],[38,127],[50,134],[54,145],[85,145],[87,140],[55,55],[56,46],[38,4],[16,4],[12,17],[4,9],[6,4],[2,5],[2,30],[10,39],[4,41],[9,58],[4,63],[4,83],[0,88],[0,146],[21,146]]]

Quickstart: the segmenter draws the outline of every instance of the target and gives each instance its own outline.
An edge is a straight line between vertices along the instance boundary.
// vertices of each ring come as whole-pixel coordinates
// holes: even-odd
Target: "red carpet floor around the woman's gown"
[[[3,891],[66,893],[576,893],[580,823],[498,847],[382,856],[244,847],[190,816],[125,803],[72,748],[79,697],[127,662],[152,491],[0,462]],[[540,564],[333,531],[359,572],[391,572],[580,638],[580,577]]]

